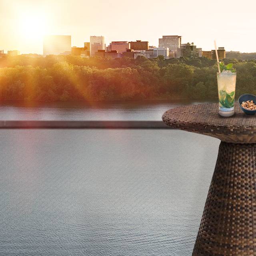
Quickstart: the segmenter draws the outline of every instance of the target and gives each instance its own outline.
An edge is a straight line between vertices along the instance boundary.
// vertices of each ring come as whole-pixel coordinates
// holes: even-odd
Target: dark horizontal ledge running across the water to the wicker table
[[[0,129],[170,129],[162,121],[0,121]]]

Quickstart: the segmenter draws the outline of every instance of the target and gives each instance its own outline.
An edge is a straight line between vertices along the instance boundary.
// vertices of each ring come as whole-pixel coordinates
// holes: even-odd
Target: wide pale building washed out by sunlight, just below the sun
[[[44,56],[70,55],[71,36],[51,35],[44,36]]]

